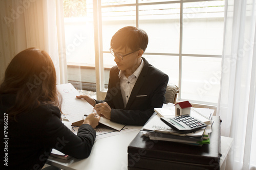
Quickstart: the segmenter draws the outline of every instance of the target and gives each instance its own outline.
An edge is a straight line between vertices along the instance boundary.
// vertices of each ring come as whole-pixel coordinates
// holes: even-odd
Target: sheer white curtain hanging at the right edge
[[[221,135],[233,138],[223,169],[256,169],[256,8],[226,0],[221,90]]]

